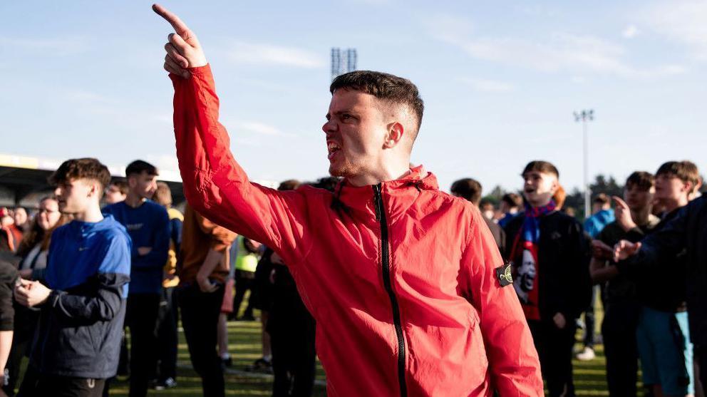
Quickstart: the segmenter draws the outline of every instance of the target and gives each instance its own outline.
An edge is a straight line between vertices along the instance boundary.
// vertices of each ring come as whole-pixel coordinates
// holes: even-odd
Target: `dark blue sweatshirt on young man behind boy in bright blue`
[[[130,294],[160,294],[162,292],[162,269],[167,263],[170,249],[170,217],[165,207],[145,200],[140,207],[133,208],[125,202],[116,202],[103,208],[123,224],[133,240],[132,273]],[[139,247],[151,247],[147,255],[138,253]]]

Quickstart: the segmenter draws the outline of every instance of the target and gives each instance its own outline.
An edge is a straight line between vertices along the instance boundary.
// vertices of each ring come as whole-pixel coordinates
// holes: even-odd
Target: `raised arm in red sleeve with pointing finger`
[[[176,33],[165,45],[165,69],[175,87],[174,123],[177,158],[190,205],[200,214],[238,234],[279,250],[298,262],[306,205],[300,192],[278,192],[248,180],[229,149],[218,122],[219,100],[206,57],[195,34],[161,6],[155,12]]]

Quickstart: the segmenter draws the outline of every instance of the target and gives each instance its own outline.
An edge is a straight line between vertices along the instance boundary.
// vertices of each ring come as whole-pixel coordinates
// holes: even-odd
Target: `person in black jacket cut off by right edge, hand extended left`
[[[690,337],[699,378],[707,384],[707,197],[691,201],[661,230],[641,242],[621,240],[614,247],[616,268],[622,274],[641,274],[670,264],[686,254],[686,300]],[[665,269],[671,272],[672,269]]]

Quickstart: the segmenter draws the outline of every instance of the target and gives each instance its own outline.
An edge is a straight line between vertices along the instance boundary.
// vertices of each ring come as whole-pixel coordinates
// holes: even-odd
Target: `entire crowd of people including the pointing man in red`
[[[164,66],[188,202],[173,208],[143,160],[115,180],[80,158],[53,172],[33,217],[1,210],[2,393],[104,396],[119,372],[130,396],[176,387],[181,322],[203,395],[224,396],[227,321],[259,309],[262,358],[248,369],[272,371],[273,396],[311,396],[316,356],[331,396],[574,396],[572,359],[594,356],[598,295],[610,396],[639,393],[639,366],[645,395],[703,396],[696,165],[633,172],[584,222],[544,160],[499,208],[472,178],[448,195],[410,163],[417,87],[354,71],[330,86],[332,177],[264,187],[230,153],[195,33],[153,9],[175,29]]]

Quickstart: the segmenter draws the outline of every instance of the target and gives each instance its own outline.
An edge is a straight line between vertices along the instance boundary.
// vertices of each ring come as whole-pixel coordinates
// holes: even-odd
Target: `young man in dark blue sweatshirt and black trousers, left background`
[[[133,240],[128,314],[130,328],[130,397],[145,397],[157,365],[158,341],[155,335],[162,269],[170,248],[170,217],[167,210],[150,200],[157,190],[158,169],[135,160],[125,169],[128,195],[122,202],[103,208],[118,220]]]

